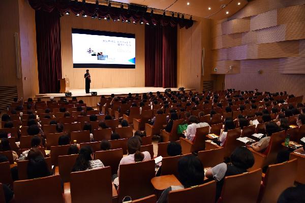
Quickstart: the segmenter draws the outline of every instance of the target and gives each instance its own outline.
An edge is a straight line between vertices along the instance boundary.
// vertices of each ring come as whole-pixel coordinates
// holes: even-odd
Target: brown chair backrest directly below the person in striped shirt
[[[100,201],[111,203],[111,168],[108,166],[96,170],[71,173],[70,191],[73,203]]]

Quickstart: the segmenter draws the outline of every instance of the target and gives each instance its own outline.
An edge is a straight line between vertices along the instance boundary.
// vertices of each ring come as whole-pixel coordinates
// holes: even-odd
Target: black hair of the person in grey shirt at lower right
[[[237,147],[230,158],[231,163],[238,168],[247,170],[254,165],[254,156],[247,147]]]

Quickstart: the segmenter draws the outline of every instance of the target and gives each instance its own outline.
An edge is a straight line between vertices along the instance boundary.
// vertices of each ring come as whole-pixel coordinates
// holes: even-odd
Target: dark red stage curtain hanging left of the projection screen
[[[56,10],[38,10],[36,18],[36,41],[38,60],[39,93],[58,93],[62,78],[60,44],[60,19]]]

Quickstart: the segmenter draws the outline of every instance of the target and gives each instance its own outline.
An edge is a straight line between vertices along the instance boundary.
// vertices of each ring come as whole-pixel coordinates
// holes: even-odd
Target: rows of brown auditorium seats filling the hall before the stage
[[[305,123],[299,117],[305,112],[303,96],[232,89],[201,93],[168,91],[125,97],[102,96],[97,109],[86,107],[76,98],[62,97],[58,101],[55,98],[47,102],[37,99],[18,99],[11,104],[7,114],[2,114],[0,132],[2,136],[9,137],[11,151],[0,149],[0,155],[8,159],[0,163],[0,182],[8,184],[14,192],[12,202],[41,202],[44,199],[48,199],[48,202],[101,202],[101,199],[102,202],[121,202],[126,196],[130,196],[132,202],[156,202],[163,190],[181,185],[178,162],[182,157],[197,157],[204,167],[204,177],[208,168],[223,162],[230,163],[230,155],[241,146],[251,151],[254,164],[247,173],[226,176],[219,199],[216,199],[218,183],[204,177],[200,185],[169,192],[167,202],[277,202],[285,189],[305,183],[305,156],[293,152],[304,145]],[[158,108],[153,105],[155,101]],[[157,114],[159,110],[162,114]],[[207,123],[210,126],[199,126],[193,141],[177,133],[178,126],[192,119],[190,115],[187,117],[188,112],[198,119],[199,124]],[[173,114],[178,118],[168,132],[165,129]],[[270,116],[268,121],[264,120],[266,114]],[[31,119],[33,115],[35,119]],[[150,120],[154,117],[152,123]],[[246,126],[240,126],[242,118],[248,121]],[[253,134],[265,134],[265,126],[269,122],[281,123],[282,118],[287,119],[288,129],[281,128],[281,131],[273,133],[266,150],[257,152],[249,143],[238,140],[249,138],[253,142],[259,141]],[[121,122],[125,119],[129,126],[122,127]],[[40,128],[35,136],[28,134],[32,133],[28,128],[33,126],[28,126],[29,120]],[[234,128],[227,131],[225,144],[221,147],[217,144],[218,138],[228,120],[233,121]],[[100,129],[100,121],[109,128]],[[87,124],[91,129],[83,130]],[[63,128],[60,130],[58,126]],[[121,159],[128,154],[127,142],[136,130],[145,132],[141,137],[140,151],[148,151],[151,160],[119,166]],[[114,132],[119,139],[112,139]],[[90,133],[93,137],[90,137]],[[69,137],[70,144],[58,144],[58,139],[63,135]],[[33,137],[41,139],[40,146],[33,146]],[[287,137],[290,140],[286,144]],[[109,140],[111,148],[102,151],[101,143],[105,140]],[[167,147],[171,142],[181,146],[180,155],[168,154]],[[94,159],[101,160],[105,167],[72,172],[79,156],[68,155],[73,145],[78,149],[91,146]],[[28,179],[27,164],[31,159],[19,158],[22,152],[31,147],[42,152],[51,176]],[[19,158],[13,157],[12,151]],[[287,151],[288,155],[279,162],[282,151]],[[155,170],[158,168],[155,169],[153,159],[159,156],[163,157],[162,168],[161,174],[156,176]],[[117,173],[118,167],[120,184],[116,188],[112,175]],[[18,174],[17,180],[13,180],[16,179],[14,173]],[[0,189],[0,194],[3,194],[2,187]],[[3,202],[3,195],[0,198]]]

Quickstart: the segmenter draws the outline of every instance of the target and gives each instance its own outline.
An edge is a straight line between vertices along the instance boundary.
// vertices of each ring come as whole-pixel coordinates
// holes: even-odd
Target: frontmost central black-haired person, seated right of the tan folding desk
[[[165,189],[157,202],[166,203],[170,191],[203,184],[203,174],[202,163],[196,156],[181,157],[178,161],[178,179],[182,185],[170,186]]]

